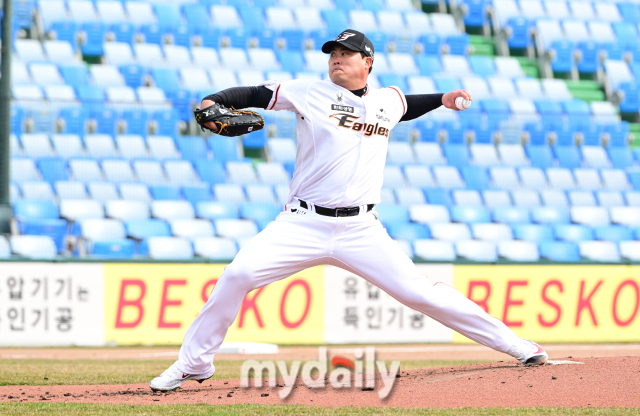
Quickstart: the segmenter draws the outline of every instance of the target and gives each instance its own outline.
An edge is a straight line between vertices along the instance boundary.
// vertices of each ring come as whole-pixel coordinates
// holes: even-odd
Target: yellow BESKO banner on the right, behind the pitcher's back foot
[[[640,268],[455,266],[455,288],[538,342],[640,341]],[[456,342],[471,342],[459,334]]]

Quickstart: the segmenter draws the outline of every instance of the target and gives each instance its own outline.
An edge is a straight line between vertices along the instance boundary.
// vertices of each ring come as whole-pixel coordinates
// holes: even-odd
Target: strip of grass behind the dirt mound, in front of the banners
[[[0,386],[148,383],[173,360],[0,360]],[[403,370],[447,367],[483,361],[401,361]],[[290,365],[290,361],[287,362]],[[239,360],[216,360],[216,379],[240,378]]]

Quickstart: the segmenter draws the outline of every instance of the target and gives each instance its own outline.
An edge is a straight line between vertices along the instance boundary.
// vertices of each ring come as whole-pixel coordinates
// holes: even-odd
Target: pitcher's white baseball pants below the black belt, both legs
[[[291,210],[295,210],[295,213]],[[287,205],[228,265],[189,327],[178,368],[211,369],[213,357],[250,291],[308,267],[330,264],[378,286],[403,304],[489,348],[506,352],[514,332],[462,293],[421,276],[372,212],[326,217]]]

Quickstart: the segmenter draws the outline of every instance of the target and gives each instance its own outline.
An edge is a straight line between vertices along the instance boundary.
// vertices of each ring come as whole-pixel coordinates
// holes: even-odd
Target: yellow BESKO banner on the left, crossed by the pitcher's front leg
[[[105,264],[106,342],[180,345],[224,266]],[[322,344],[323,268],[247,294],[225,341]]]

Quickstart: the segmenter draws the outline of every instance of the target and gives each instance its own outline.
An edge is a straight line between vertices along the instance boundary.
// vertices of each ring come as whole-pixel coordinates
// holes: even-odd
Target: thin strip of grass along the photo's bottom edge
[[[474,416],[534,416],[534,415],[640,415],[640,409],[624,408],[464,408],[464,409],[401,409],[396,407],[311,407],[302,405],[108,405],[76,403],[0,403],[0,414],[13,415],[474,415]]]

